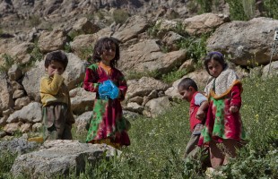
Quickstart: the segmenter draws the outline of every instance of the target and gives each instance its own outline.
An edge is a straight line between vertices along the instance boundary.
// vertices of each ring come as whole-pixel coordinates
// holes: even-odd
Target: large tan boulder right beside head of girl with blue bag
[[[143,40],[123,50],[119,69],[129,72],[170,72],[178,64],[186,61],[186,50],[164,54],[154,39]]]

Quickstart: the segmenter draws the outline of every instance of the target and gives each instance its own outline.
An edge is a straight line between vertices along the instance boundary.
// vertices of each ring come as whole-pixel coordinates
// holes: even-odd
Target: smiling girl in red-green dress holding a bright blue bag
[[[117,149],[130,145],[129,126],[120,104],[125,99],[127,84],[123,73],[115,67],[119,57],[116,39],[100,38],[83,83],[84,90],[96,92],[86,142],[106,143]]]

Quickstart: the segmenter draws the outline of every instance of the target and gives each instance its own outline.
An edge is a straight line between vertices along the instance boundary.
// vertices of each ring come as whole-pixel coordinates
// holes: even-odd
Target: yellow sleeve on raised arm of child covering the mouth
[[[54,74],[53,80],[49,78],[43,78],[40,81],[40,90],[43,93],[50,95],[56,95],[63,84],[64,78],[61,75]]]

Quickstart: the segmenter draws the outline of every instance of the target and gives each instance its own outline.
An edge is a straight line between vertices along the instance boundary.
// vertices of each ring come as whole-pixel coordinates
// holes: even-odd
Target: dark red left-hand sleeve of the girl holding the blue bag
[[[91,92],[98,92],[100,83],[98,83],[98,74],[91,70],[91,68],[86,69],[85,79],[83,82],[84,90]]]

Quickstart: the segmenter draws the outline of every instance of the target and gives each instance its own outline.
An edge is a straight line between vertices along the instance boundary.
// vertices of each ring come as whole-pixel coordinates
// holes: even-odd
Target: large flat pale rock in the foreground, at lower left
[[[69,175],[70,170],[79,174],[85,170],[86,162],[95,163],[103,158],[121,152],[106,144],[80,143],[78,141],[46,141],[39,151],[18,156],[12,166],[14,177],[21,174],[31,178],[52,178],[57,175]]]

